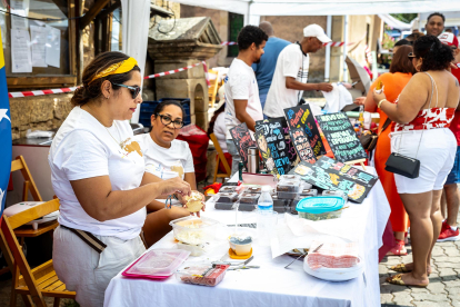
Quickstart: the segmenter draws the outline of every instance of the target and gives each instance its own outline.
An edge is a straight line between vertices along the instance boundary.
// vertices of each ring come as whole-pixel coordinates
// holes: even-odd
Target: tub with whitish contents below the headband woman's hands
[[[201,245],[214,240],[219,221],[211,218],[184,217],[171,220],[174,238],[189,245]]]

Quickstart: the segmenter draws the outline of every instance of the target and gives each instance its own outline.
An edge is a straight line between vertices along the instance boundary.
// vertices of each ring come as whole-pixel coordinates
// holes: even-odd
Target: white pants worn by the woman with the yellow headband
[[[81,307],[103,306],[110,280],[146,251],[140,237],[122,240],[96,236],[107,245],[101,254],[69,229],[58,227],[53,237],[54,270],[68,290],[77,291],[77,301]]]

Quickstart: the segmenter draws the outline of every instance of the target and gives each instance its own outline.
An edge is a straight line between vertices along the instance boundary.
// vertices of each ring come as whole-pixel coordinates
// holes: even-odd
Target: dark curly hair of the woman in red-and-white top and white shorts
[[[443,70],[453,61],[452,49],[433,36],[423,36],[413,42],[413,55],[422,58],[420,70]]]

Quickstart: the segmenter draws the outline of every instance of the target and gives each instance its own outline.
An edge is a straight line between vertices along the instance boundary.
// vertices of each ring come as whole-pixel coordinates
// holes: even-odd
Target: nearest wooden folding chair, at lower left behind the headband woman
[[[11,306],[16,307],[16,295],[20,294],[26,306],[47,307],[43,297],[54,297],[53,306],[59,306],[61,298],[74,298],[76,293],[66,289],[66,285],[59,280],[49,260],[33,269],[30,269],[22,248],[14,236],[13,229],[32,221],[46,215],[59,210],[59,199],[53,199],[41,205],[31,207],[28,210],[19,212],[14,216],[7,217],[3,215],[0,231],[0,248],[7,259],[11,271],[17,271],[18,278],[13,280],[14,287],[11,294]],[[14,304],[14,305],[12,305]]]

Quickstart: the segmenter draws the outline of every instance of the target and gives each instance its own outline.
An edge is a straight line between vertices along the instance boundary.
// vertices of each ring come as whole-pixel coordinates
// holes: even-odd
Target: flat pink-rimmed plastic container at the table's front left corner
[[[164,278],[174,274],[189,255],[190,251],[181,249],[151,249],[121,275],[132,278]]]

